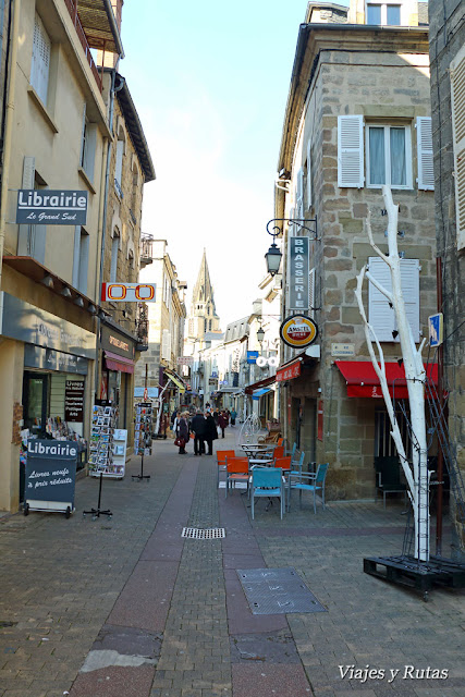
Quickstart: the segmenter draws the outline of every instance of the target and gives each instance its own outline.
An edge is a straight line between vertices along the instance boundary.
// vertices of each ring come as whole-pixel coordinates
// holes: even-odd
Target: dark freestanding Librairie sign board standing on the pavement
[[[73,511],[77,454],[74,441],[27,441],[24,498],[30,510]]]

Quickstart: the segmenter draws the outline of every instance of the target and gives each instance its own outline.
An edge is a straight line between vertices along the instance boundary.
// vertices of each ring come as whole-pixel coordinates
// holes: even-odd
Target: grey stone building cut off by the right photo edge
[[[451,450],[465,470],[465,22],[463,2],[429,2],[431,115],[435,152],[437,255],[444,316],[444,387]],[[464,554],[464,514],[454,511]]]

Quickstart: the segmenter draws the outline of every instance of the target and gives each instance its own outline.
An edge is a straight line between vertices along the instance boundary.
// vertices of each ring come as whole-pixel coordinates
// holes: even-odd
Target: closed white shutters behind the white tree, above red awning
[[[369,271],[380,285],[392,292],[391,272],[383,259],[370,257]],[[401,283],[407,320],[414,341],[418,343],[420,339],[418,259],[401,259]],[[368,321],[379,341],[399,342],[399,335],[395,339],[392,335],[396,330],[394,309],[389,306],[388,298],[371,282],[368,288]]]

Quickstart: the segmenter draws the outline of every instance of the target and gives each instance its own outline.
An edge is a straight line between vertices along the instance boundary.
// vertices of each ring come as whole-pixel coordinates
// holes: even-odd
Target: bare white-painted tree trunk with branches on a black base
[[[427,438],[425,417],[425,379],[426,372],[421,359],[421,351],[426,339],[416,348],[414,337],[407,321],[405,313],[404,297],[401,288],[401,262],[397,249],[397,213],[399,207],[392,201],[392,194],[389,186],[382,187],[384,208],[388,211],[388,256],[375,244],[371,231],[370,215],[366,220],[366,228],[371,247],[376,254],[386,261],[391,273],[392,292],[383,288],[364,266],[357,277],[357,289],[355,292],[358,308],[364,322],[365,337],[368,351],[371,357],[375,371],[379,378],[382,395],[384,398],[389,418],[391,421],[391,436],[394,440],[401,464],[408,486],[408,497],[414,511],[415,521],[415,558],[420,562],[429,560],[429,472],[427,465]],[[362,299],[362,289],[365,277],[382,293],[394,309],[405,378],[408,390],[408,401],[411,406],[412,424],[412,468],[409,466],[405,448],[402,442],[401,431],[395,417],[395,412],[389,393],[388,380],[386,377],[384,354],[372,327],[367,320],[365,307]],[[375,354],[374,342],[378,350],[378,359]]]

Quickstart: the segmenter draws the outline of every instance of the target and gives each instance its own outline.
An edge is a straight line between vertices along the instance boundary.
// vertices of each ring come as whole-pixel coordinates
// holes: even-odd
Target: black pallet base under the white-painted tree
[[[418,562],[414,557],[369,557],[364,559],[364,572],[394,584],[415,588],[428,599],[433,585],[449,588],[465,588],[465,564],[450,559],[431,557],[428,562]]]

